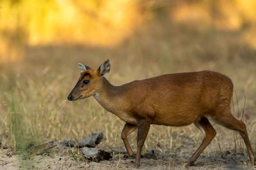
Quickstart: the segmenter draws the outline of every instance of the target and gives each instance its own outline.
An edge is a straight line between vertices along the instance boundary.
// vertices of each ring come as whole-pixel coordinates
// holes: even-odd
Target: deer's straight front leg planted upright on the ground
[[[134,168],[140,166],[140,154],[144,145],[145,139],[147,138],[148,131],[150,128],[150,120],[140,120],[138,122],[138,136],[137,136],[137,153],[135,158]]]

